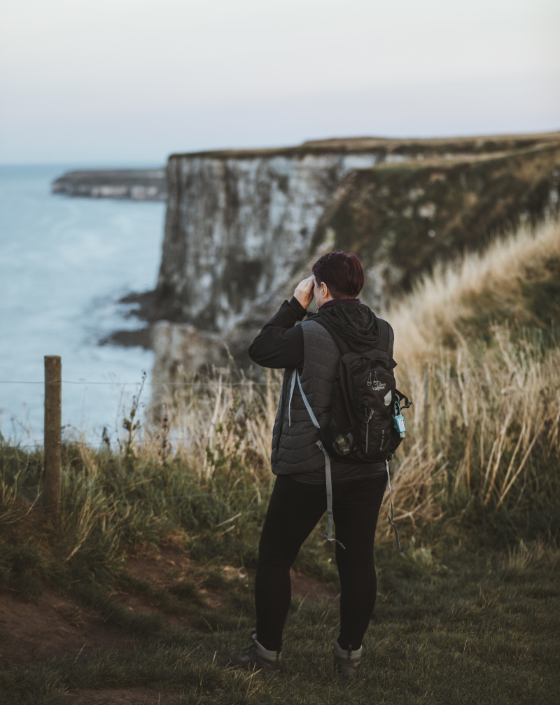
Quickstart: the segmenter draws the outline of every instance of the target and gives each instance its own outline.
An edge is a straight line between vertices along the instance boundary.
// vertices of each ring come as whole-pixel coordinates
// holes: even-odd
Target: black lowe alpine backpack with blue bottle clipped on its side
[[[379,321],[377,345],[355,353],[330,326],[317,317],[341,350],[331,405],[331,422],[321,429],[322,441],[331,456],[341,462],[377,462],[390,458],[404,436],[397,429],[401,408],[410,406],[398,391],[393,374],[393,329]]]

